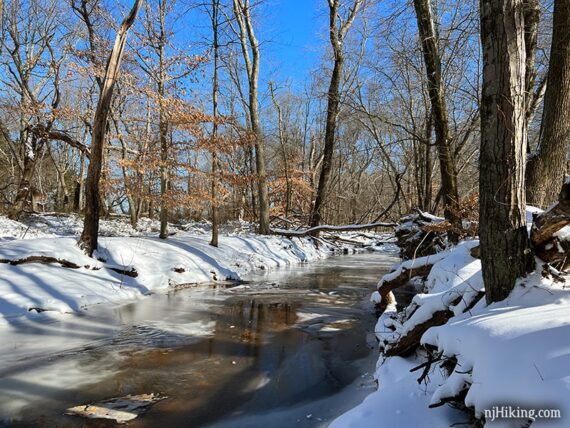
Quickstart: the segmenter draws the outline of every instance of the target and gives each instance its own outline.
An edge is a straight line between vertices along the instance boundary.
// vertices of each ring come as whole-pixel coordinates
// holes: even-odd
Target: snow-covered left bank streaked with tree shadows
[[[0,327],[22,316],[57,317],[172,287],[239,280],[252,270],[309,262],[338,249],[311,238],[255,235],[247,223],[225,226],[215,248],[207,223],[172,227],[167,240],[156,237],[156,221],[140,224],[135,230],[125,219],[102,221],[99,249],[89,258],[76,245],[77,216],[37,215],[26,224],[0,217]]]

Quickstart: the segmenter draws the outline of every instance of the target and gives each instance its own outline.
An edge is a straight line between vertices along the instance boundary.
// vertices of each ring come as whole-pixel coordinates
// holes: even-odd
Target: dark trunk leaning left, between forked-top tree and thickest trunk
[[[441,57],[437,46],[430,0],[414,0],[418,30],[422,42],[424,63],[426,67],[428,92],[431,102],[433,126],[435,129],[435,146],[439,158],[441,188],[445,218],[454,225],[461,219],[458,217],[459,192],[457,190],[457,167],[451,149],[449,123],[445,103],[445,91],[441,75]],[[450,235],[454,241],[457,236]]]

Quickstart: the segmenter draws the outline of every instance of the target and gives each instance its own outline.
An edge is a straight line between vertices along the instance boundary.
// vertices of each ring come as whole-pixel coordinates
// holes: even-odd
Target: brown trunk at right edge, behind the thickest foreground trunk
[[[570,0],[555,0],[541,140],[527,165],[527,200],[545,208],[558,196],[570,143]]]

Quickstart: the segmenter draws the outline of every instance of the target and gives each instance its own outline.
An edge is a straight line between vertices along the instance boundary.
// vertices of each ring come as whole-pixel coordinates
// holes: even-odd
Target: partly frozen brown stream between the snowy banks
[[[326,426],[375,388],[368,297],[396,261],[335,256],[14,322],[0,332],[0,426],[115,426],[64,412],[151,392],[168,398],[129,426]]]

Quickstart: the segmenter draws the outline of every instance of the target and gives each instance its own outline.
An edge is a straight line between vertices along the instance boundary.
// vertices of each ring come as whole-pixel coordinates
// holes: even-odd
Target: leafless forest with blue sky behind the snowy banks
[[[317,37],[299,81],[274,70],[286,41],[265,25],[273,0],[0,1],[0,211],[12,217],[159,217],[161,237],[180,219],[270,233],[275,219],[307,230],[414,209],[457,225],[479,191],[479,2],[291,2],[314,9]],[[553,5],[524,3],[533,160],[558,138]],[[537,181],[532,202],[546,207],[560,180]]]

